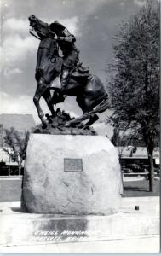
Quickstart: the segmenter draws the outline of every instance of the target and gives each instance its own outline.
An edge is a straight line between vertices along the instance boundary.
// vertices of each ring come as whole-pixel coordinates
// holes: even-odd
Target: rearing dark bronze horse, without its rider
[[[43,128],[47,127],[47,121],[44,117],[39,101],[43,96],[51,115],[55,117],[54,105],[63,102],[59,98],[59,88],[52,87],[52,81],[60,75],[63,59],[59,56],[59,47],[56,41],[56,35],[49,29],[48,23],[39,20],[35,15],[29,17],[30,33],[40,40],[37,51],[37,67],[35,78],[37,80],[37,90],[33,97],[33,102],[37,108],[37,113]],[[35,34],[36,32],[36,34]],[[80,64],[79,64],[80,65]],[[80,70],[80,69],[79,69]],[[51,96],[51,90],[54,90]],[[86,127],[92,125],[98,118],[96,113],[102,113],[109,108],[108,96],[101,80],[92,74],[79,73],[77,68],[72,73],[66,90],[63,90],[65,96],[76,96],[78,106],[82,109],[83,115],[77,119],[72,119],[65,126],[78,125],[83,120],[89,119]]]

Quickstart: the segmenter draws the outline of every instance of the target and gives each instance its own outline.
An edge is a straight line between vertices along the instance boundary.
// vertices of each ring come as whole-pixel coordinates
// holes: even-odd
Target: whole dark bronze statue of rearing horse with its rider
[[[64,102],[66,96],[76,96],[83,115],[66,121],[65,126],[77,127],[87,120],[83,127],[89,127],[99,119],[97,113],[109,108],[104,85],[96,75],[89,73],[89,68],[82,66],[79,61],[79,51],[74,44],[76,38],[65,26],[58,21],[48,25],[35,15],[31,15],[29,21],[32,27],[30,33],[40,40],[35,73],[37,90],[33,102],[43,129],[47,127],[47,119],[39,103],[42,96],[49,107],[51,117],[56,115],[55,104]],[[59,49],[62,56],[59,55]],[[59,76],[60,87],[56,87],[53,81]],[[49,120],[52,122],[51,119]]]

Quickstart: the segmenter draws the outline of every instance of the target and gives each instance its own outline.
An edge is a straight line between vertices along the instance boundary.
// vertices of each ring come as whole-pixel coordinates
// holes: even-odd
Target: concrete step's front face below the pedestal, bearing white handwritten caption
[[[110,216],[1,212],[0,226],[1,245],[33,245],[158,235],[159,217],[140,212],[118,212]]]

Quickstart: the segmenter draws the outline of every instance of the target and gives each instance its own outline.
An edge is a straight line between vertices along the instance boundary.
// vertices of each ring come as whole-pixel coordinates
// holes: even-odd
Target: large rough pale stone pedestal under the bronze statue
[[[122,179],[118,152],[101,136],[32,134],[23,178],[24,212],[118,212]]]

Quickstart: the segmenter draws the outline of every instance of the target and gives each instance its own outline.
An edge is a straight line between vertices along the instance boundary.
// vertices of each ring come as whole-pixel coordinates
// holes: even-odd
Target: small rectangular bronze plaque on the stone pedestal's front
[[[82,172],[83,162],[81,158],[65,158],[64,159],[65,172]]]

